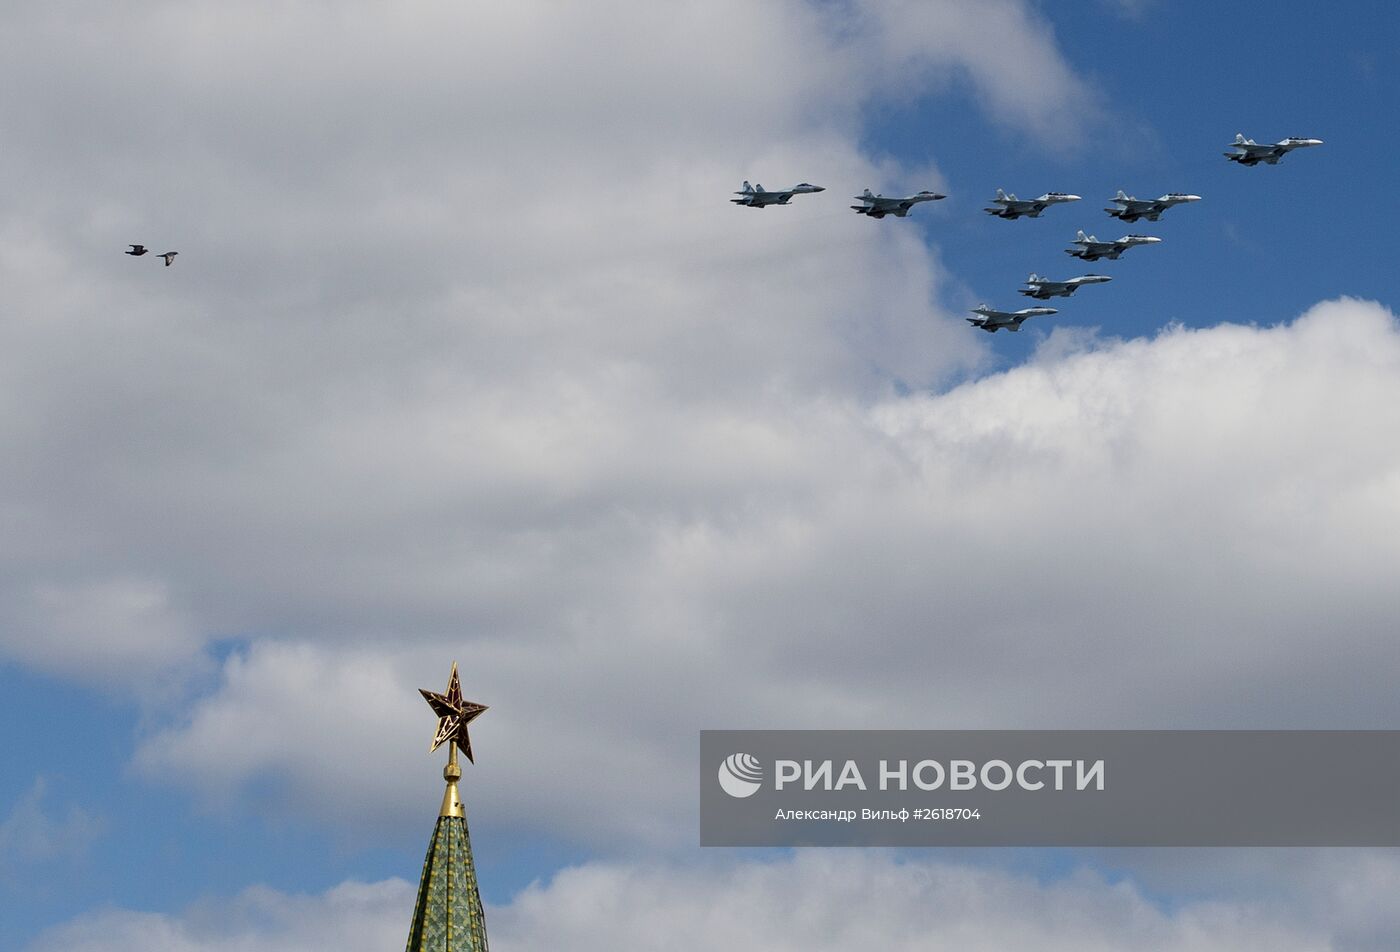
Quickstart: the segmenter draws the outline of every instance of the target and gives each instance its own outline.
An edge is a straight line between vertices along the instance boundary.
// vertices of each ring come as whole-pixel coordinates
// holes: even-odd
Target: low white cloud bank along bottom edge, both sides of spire
[[[1393,860],[1383,862],[1393,882]],[[1331,871],[1329,871],[1331,872]],[[1371,872],[1338,869],[1329,896],[1369,889]],[[253,889],[179,916],[97,913],[50,930],[28,952],[242,952],[393,948],[407,932],[413,888],[346,883],[323,896]],[[1378,906],[1317,902],[1184,902],[1162,907],[1131,882],[1078,871],[1047,881],[937,860],[806,851],[773,862],[701,868],[592,864],[566,869],[487,909],[493,946],[651,949],[1152,948],[1163,952],[1361,952],[1396,939]],[[1366,942],[1375,941],[1372,945]]]

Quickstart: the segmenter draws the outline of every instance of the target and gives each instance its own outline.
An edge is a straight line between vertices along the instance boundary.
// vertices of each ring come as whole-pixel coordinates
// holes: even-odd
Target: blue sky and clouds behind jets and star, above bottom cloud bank
[[[412,689],[454,659],[514,948],[629,869],[899,864],[1126,890],[1161,948],[1214,948],[1203,902],[1260,948],[1400,934],[1365,903],[1259,925],[1331,854],[700,851],[686,773],[711,727],[1394,725],[1386,4],[791,3],[729,39],[703,4],[136,7],[105,52],[106,14],[4,36],[0,946],[151,914],[216,948],[242,925],[203,903],[412,881],[440,787]],[[1326,144],[1242,168],[1236,132]],[[827,192],[757,220],[743,178]],[[949,197],[865,221],[865,186]],[[998,186],[1084,200],[1008,223]],[[1121,225],[1120,188],[1204,199]],[[1165,241],[1085,267],[1077,228]],[[181,259],[99,258],[127,241]],[[1032,270],[1114,280],[1021,335],[962,322]]]

